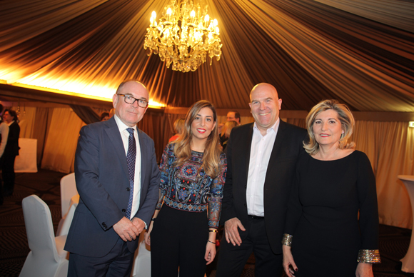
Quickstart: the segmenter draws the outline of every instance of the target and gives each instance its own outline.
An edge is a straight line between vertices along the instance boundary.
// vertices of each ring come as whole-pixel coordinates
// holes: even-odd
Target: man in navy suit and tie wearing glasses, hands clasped
[[[158,201],[160,173],[153,140],[136,124],[149,94],[138,81],[113,95],[115,115],[81,129],[75,154],[80,200],[65,250],[68,276],[129,276],[138,236]]]

